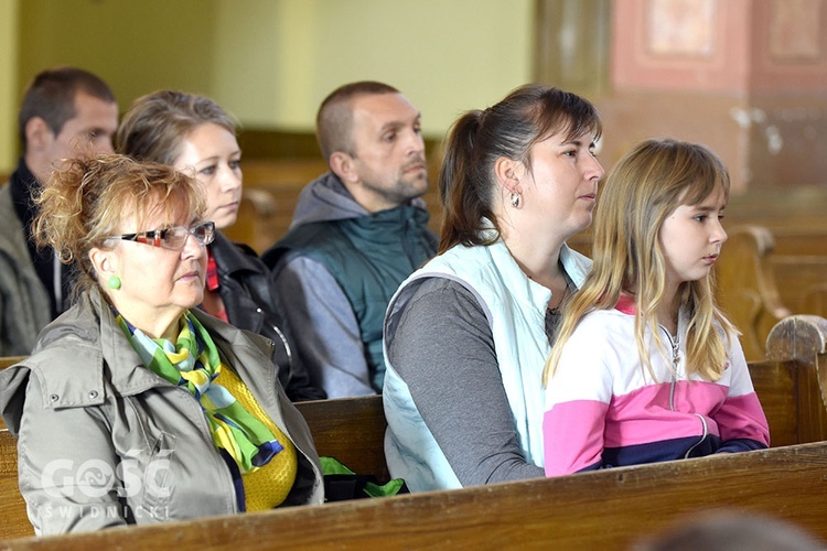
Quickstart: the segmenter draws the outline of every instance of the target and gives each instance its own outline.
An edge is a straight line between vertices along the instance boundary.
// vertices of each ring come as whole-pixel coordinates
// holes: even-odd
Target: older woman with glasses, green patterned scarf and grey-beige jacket
[[[0,374],[35,533],[319,504],[310,431],[272,343],[205,314],[201,185],[120,155],[75,160],[34,235],[78,271],[74,306]]]

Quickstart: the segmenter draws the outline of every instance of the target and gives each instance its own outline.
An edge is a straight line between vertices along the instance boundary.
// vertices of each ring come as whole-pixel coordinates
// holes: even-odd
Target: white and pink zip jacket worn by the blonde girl
[[[667,346],[658,349],[647,335],[652,380],[637,354],[634,309],[622,299],[613,310],[589,313],[566,343],[546,389],[546,475],[769,446],[738,338],[730,338],[720,380],[687,377],[681,312],[677,338],[662,327]]]

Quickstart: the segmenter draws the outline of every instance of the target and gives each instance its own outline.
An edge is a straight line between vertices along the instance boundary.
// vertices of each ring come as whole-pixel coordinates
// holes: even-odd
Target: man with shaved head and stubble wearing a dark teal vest
[[[330,172],[299,196],[265,255],[297,353],[329,398],[382,392],[385,309],[437,250],[419,111],[386,84],[334,90],[316,117]]]

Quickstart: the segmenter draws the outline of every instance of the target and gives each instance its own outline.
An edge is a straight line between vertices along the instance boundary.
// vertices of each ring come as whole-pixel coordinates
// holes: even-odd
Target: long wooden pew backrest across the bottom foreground
[[[7,549],[629,549],[704,510],[734,508],[827,539],[827,443],[380,499],[3,542]]]

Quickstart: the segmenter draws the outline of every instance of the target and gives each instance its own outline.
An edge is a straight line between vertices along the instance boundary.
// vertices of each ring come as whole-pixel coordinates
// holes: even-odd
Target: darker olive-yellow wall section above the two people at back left
[[[208,93],[213,74],[214,0],[21,1],[20,78],[78,65],[107,80],[121,108],[176,86]]]

